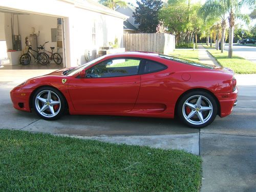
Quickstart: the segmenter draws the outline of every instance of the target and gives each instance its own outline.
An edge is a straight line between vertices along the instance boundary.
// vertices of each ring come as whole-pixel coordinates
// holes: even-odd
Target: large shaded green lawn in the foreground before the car
[[[184,151],[0,130],[1,191],[199,191]]]

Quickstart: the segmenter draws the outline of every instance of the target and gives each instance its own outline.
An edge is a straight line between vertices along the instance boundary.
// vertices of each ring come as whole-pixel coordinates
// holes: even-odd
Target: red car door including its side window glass
[[[86,71],[86,77],[74,78],[69,93],[79,112],[129,112],[140,89],[140,59],[114,58]]]

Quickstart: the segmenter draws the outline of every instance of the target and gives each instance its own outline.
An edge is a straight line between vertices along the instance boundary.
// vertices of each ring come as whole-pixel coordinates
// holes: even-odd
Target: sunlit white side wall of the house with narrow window
[[[85,63],[84,53],[89,50],[91,53],[99,50],[100,47],[109,46],[109,42],[114,44],[118,39],[119,47],[122,47],[123,21],[109,15],[98,14],[91,11],[84,11],[77,8],[71,20],[74,22],[74,40],[77,65]],[[76,19],[79,18],[79,19]],[[92,30],[95,22],[96,45],[93,45]],[[71,42],[72,44],[72,42]]]

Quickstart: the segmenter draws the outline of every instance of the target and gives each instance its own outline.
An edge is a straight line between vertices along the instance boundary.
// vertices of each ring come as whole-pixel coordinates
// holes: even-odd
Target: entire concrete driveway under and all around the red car
[[[50,71],[0,69],[0,129],[183,148],[203,159],[201,191],[256,191],[256,75],[238,75],[239,102],[233,113],[197,130],[172,119],[67,115],[45,121],[35,113],[13,109],[9,91],[29,77]]]

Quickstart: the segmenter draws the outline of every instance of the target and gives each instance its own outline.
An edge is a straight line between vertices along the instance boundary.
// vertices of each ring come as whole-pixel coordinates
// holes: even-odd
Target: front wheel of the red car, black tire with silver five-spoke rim
[[[63,95],[52,87],[38,89],[34,93],[32,102],[37,115],[45,120],[58,119],[67,109],[66,100]]]

